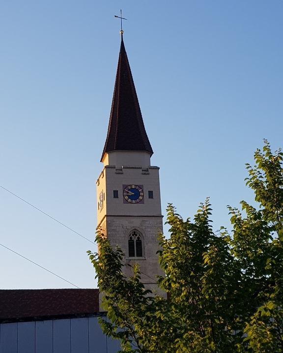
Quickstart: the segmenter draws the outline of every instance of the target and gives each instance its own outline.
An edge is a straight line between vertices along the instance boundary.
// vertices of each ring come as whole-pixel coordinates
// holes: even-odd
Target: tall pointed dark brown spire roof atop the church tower
[[[142,113],[131,73],[123,35],[107,138],[102,153],[110,151],[147,151],[153,153],[142,121]]]

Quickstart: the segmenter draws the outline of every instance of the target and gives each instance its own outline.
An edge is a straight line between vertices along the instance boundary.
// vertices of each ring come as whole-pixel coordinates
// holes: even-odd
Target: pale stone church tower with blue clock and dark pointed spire
[[[113,101],[97,185],[97,225],[110,243],[138,263],[142,282],[156,291],[162,274],[157,235],[162,231],[159,168],[150,165],[149,143],[121,31]],[[132,269],[124,266],[130,276]],[[160,293],[162,294],[162,293]]]

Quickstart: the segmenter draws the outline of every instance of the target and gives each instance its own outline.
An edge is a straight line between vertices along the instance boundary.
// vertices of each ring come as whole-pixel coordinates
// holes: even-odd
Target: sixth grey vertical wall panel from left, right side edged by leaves
[[[107,352],[106,335],[98,323],[98,317],[88,318],[89,353]]]

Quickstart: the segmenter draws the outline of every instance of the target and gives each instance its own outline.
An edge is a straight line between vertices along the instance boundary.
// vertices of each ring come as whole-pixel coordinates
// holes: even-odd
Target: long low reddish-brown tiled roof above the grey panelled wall
[[[95,314],[98,297],[98,289],[0,290],[0,322]]]

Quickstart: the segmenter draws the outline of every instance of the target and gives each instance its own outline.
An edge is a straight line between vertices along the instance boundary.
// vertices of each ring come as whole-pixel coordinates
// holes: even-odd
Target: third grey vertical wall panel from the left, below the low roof
[[[53,321],[35,322],[35,353],[53,353]]]

